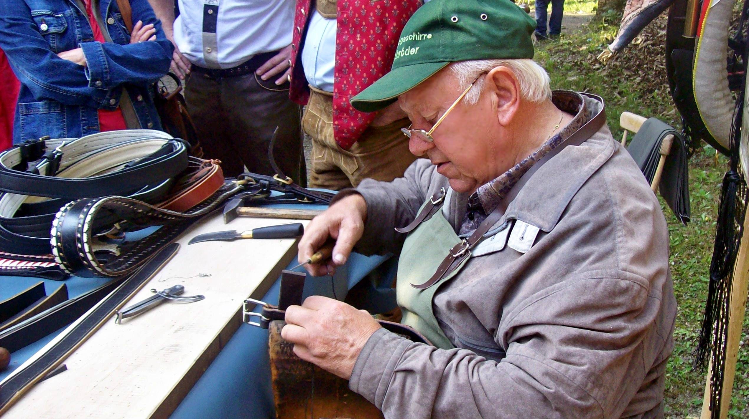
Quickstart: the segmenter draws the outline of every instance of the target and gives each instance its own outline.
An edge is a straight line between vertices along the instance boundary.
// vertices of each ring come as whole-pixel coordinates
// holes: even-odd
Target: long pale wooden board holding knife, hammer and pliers
[[[64,361],[67,371],[35,385],[3,419],[166,418],[240,325],[243,300],[262,297],[297,253],[294,239],[187,241],[200,233],[292,222],[237,218],[225,225],[220,215],[201,221],[125,307],[153,296],[152,288],[175,284],[184,285],[184,296],[205,299],[164,302],[122,324],[112,316]]]

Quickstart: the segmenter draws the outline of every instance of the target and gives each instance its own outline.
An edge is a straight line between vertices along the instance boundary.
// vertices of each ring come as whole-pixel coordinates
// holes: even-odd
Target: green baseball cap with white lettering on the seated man
[[[533,58],[536,21],[510,0],[432,0],[406,23],[392,70],[351,98],[360,111],[394,103],[447,64]]]

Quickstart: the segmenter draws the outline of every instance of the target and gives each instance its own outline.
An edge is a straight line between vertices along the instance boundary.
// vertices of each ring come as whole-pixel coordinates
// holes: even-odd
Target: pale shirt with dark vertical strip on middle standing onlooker
[[[197,66],[237,67],[253,55],[291,43],[294,4],[294,0],[179,0],[175,43]]]

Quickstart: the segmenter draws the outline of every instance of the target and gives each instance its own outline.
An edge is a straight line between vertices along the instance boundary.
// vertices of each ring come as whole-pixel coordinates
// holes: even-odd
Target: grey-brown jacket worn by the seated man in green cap
[[[442,187],[425,159],[392,183],[361,183],[357,251],[398,253],[405,235],[393,228]],[[467,198],[452,193],[443,207],[456,231]],[[539,228],[530,248],[508,244],[519,222]],[[386,418],[661,418],[676,316],[667,226],[607,126],[539,168],[503,224],[500,244],[479,243],[432,302],[457,349],[380,329],[351,390]]]

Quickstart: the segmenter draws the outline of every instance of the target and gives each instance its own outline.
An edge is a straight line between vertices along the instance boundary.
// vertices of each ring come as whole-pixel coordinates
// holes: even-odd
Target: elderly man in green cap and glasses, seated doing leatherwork
[[[354,245],[399,252],[403,323],[432,345],[320,296],[288,309],[282,336],[386,418],[664,415],[676,314],[664,216],[601,99],[549,89],[533,26],[509,0],[431,1],[392,71],[352,100],[374,111],[397,98],[427,159],[341,192],[300,260],[329,236],[315,275]]]

